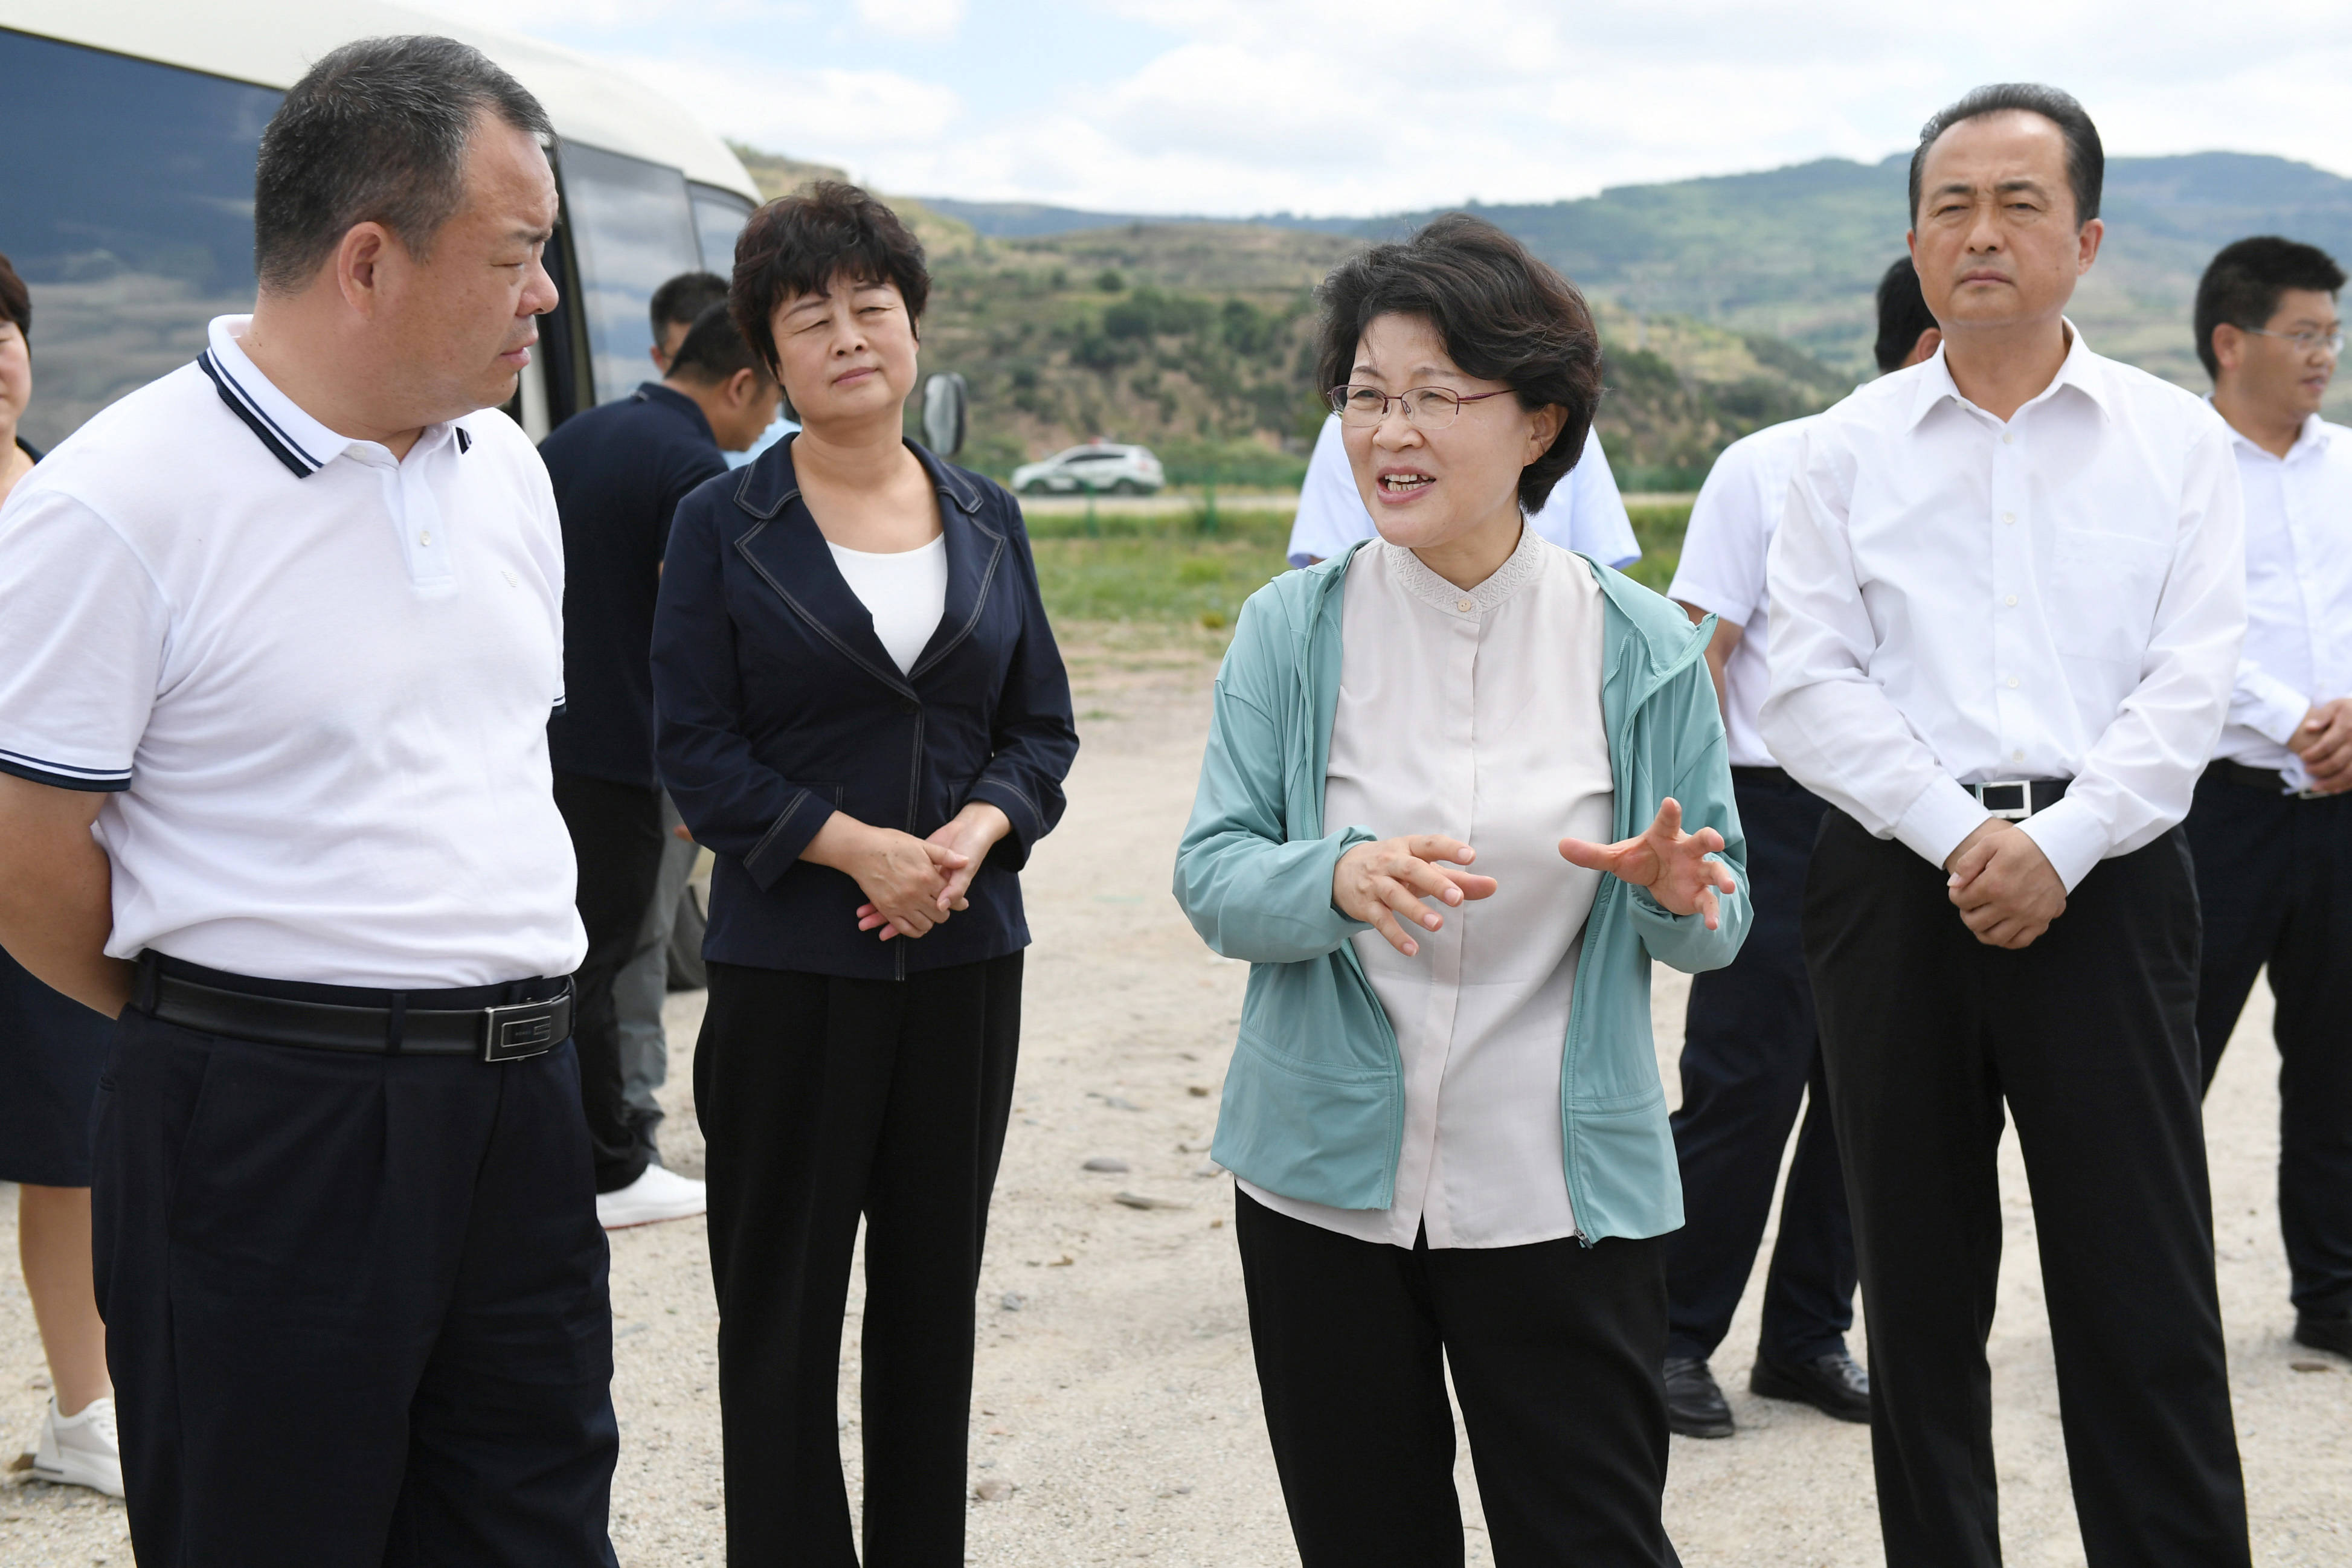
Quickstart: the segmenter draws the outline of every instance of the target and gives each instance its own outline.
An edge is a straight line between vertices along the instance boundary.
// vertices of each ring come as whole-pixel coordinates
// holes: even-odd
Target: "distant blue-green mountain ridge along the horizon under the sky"
[[[1903,254],[1910,155],[1875,165],[1820,158],[1757,174],[1616,186],[1571,202],[1468,205],[1585,289],[1637,315],[1689,315],[1788,339],[1823,362],[1867,364],[1870,289]],[[1385,240],[1442,209],[1371,219],[1169,219],[1035,202],[924,197],[990,237],[1117,226],[1223,223]],[[2216,249],[2256,233],[2352,259],[2352,179],[2258,153],[2112,158],[2107,237],[2074,320],[2093,348],[2204,386],[2187,339],[2197,275]]]

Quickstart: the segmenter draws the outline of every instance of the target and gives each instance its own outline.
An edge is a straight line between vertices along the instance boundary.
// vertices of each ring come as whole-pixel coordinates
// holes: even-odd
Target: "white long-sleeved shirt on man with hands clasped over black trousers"
[[[2023,823],[2072,889],[2187,816],[2246,557],[2230,428],[2067,331],[2009,423],[1938,353],[1806,428],[1762,731],[1802,785],[1936,865],[1987,816],[1962,785],[2072,778]]]

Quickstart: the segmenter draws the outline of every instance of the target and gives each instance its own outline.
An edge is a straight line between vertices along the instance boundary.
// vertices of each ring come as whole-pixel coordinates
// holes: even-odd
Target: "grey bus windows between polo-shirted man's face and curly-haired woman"
[[[564,141],[564,214],[581,273],[595,400],[626,397],[654,374],[654,289],[701,266],[687,176],[666,165]]]

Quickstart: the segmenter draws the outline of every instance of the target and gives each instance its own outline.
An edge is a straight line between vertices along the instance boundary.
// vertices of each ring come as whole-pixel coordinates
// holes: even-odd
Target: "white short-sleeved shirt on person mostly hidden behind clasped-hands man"
[[[1736,769],[1773,766],[1771,748],[1757,729],[1757,710],[1771,691],[1771,604],[1764,592],[1764,559],[1773,529],[1788,510],[1788,482],[1804,451],[1813,416],[1764,425],[1724,447],[1691,503],[1682,534],[1682,559],[1665,597],[1696,604],[1740,628],[1740,642],[1724,661],[1724,738]]]

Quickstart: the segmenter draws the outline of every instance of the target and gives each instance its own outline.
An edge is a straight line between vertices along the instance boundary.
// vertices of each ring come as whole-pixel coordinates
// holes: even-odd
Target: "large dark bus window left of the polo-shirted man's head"
[[[33,292],[54,447],[254,308],[254,155],[282,94],[0,28],[0,252]]]

